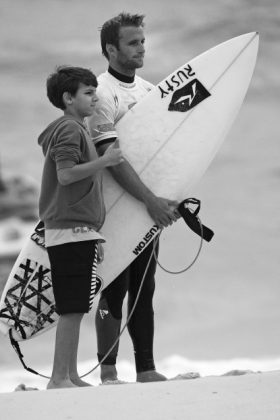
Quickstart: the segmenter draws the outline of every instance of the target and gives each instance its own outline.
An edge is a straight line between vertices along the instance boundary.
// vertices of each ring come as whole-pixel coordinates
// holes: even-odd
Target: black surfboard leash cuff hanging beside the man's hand
[[[196,208],[191,210],[190,205],[195,205]],[[210,242],[214,236],[214,232],[201,223],[200,219],[197,217],[199,210],[200,200],[197,200],[196,198],[187,198],[178,206],[178,211],[189,228],[205,241]]]

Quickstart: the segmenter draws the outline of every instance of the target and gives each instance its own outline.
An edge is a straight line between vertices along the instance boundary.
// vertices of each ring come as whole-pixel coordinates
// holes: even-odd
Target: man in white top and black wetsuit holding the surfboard
[[[152,85],[138,77],[136,69],[143,66],[145,37],[143,15],[121,13],[101,28],[102,53],[109,63],[108,71],[98,78],[96,109],[89,119],[89,129],[97,150],[103,154],[116,141],[115,124],[151,89]],[[115,180],[135,198],[142,201],[160,227],[177,220],[178,203],[156,197],[124,160],[110,169]],[[151,243],[101,294],[96,312],[98,360],[101,361],[118,337],[123,299],[128,291],[128,313],[135,302],[139,285],[147,267],[154,244]],[[153,357],[154,313],[152,299],[155,289],[156,261],[153,258],[147,271],[139,301],[128,324],[138,382],[164,381],[165,376],[155,369]],[[106,314],[106,315],[104,315]],[[118,345],[101,364],[101,381],[118,383],[116,358]]]

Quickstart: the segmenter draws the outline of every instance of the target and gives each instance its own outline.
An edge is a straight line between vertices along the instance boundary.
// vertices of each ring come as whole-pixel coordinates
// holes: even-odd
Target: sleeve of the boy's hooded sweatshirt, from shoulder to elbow
[[[56,169],[71,168],[81,162],[82,135],[74,121],[58,128],[50,149],[50,157],[56,163]]]

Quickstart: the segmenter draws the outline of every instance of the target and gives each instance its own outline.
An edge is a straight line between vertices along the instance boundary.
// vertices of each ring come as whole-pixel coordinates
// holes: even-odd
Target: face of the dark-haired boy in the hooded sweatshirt
[[[79,118],[85,118],[92,115],[98,97],[96,95],[96,88],[80,83],[75,96],[71,96],[72,110]]]

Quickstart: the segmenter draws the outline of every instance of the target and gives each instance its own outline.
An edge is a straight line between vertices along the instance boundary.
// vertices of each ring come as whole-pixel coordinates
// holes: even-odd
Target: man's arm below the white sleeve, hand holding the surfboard
[[[114,140],[115,139],[112,139],[112,142]],[[109,145],[110,144],[106,142],[106,144],[97,146],[98,153],[103,155]],[[138,174],[126,159],[124,159],[119,165],[108,169],[122,188],[146,205],[148,213],[159,228],[167,227],[178,219],[175,212],[178,203],[176,201],[155,196],[141,181]]]

